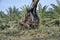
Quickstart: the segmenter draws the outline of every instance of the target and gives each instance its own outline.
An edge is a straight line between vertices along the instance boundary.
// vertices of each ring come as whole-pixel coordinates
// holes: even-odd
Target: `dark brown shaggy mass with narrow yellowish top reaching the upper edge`
[[[31,6],[27,10],[27,14],[25,14],[25,20],[20,21],[21,28],[35,29],[39,26],[39,17],[36,13],[36,8],[39,0],[32,0]]]

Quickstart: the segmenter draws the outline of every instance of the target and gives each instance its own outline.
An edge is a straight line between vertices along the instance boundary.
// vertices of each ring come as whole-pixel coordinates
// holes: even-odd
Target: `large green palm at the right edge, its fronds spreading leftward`
[[[58,5],[51,4],[53,8],[48,10],[48,14],[50,14],[51,20],[48,22],[49,24],[55,24],[59,26],[60,23],[60,1],[56,0]]]

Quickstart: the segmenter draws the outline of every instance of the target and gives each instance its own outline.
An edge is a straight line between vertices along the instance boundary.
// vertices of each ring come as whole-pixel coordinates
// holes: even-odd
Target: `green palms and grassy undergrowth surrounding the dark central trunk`
[[[19,38],[22,36],[21,40],[59,40],[60,1],[57,0],[56,2],[57,5],[51,4],[52,8],[38,5],[37,14],[40,18],[40,24],[39,29],[34,30],[21,30],[20,28],[19,21],[24,18],[27,12],[26,6],[22,7],[21,10],[15,6],[10,7],[6,10],[7,13],[0,11],[0,39],[20,40]]]

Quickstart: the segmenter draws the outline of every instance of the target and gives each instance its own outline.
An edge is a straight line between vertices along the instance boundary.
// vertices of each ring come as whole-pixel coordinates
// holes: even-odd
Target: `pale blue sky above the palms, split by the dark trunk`
[[[16,6],[17,8],[20,8],[25,4],[30,5],[31,2],[32,0],[0,0],[0,10],[5,12],[5,10],[8,9],[9,7]],[[57,4],[56,0],[40,0],[39,3],[41,3],[42,6],[49,5],[49,7],[51,7],[50,6],[51,3]]]

